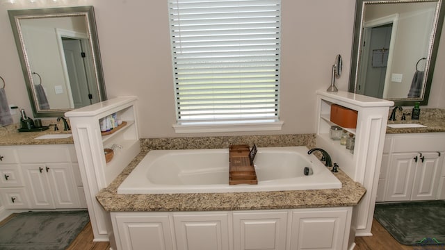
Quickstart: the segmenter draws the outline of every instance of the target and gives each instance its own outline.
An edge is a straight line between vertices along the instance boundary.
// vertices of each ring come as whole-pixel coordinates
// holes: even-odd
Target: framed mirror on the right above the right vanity
[[[357,1],[349,91],[428,104],[443,23],[439,1]]]

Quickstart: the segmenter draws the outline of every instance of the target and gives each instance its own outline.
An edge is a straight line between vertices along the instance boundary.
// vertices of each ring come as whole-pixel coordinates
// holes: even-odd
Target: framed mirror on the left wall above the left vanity
[[[104,101],[92,6],[8,10],[34,117]]]

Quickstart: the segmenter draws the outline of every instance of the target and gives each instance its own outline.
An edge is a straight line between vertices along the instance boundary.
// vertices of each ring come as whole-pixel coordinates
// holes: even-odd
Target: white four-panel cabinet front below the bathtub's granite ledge
[[[349,249],[352,207],[212,212],[112,212],[117,248]]]

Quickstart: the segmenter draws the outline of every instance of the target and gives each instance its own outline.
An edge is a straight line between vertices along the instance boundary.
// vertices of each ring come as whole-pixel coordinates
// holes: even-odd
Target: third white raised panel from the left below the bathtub
[[[234,213],[234,249],[286,249],[287,212]]]

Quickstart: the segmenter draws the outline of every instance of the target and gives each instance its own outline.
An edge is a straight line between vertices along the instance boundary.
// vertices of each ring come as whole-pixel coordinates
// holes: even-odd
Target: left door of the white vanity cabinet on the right
[[[391,156],[386,201],[409,201],[414,179],[414,157],[418,153],[394,153]]]

